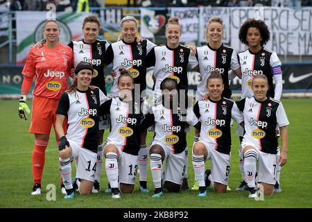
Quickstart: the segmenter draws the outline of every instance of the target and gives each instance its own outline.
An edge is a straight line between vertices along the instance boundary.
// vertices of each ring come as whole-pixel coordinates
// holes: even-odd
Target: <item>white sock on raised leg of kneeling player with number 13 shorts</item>
[[[110,182],[110,187],[118,188],[118,161],[117,154],[113,152],[109,152],[105,157],[105,171]]]

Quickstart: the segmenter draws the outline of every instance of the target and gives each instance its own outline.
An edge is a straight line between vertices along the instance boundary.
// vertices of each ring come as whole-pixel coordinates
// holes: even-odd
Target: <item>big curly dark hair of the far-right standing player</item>
[[[248,46],[248,42],[246,40],[248,28],[258,28],[262,37],[260,42],[261,46],[267,44],[270,40],[270,31],[268,26],[262,20],[256,19],[248,19],[246,22],[243,23],[241,28],[239,29],[239,40],[241,43]]]

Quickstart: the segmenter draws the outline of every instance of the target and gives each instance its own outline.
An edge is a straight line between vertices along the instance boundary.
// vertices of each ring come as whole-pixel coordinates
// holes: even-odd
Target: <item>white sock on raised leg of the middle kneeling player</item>
[[[162,187],[162,155],[157,153],[150,154],[150,171],[155,188]]]

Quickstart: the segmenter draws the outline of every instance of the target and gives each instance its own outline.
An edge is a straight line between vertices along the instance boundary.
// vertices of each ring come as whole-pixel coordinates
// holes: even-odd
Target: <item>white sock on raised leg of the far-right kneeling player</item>
[[[244,159],[245,181],[248,187],[254,187],[254,177],[257,171],[257,152],[254,150],[246,151]]]

